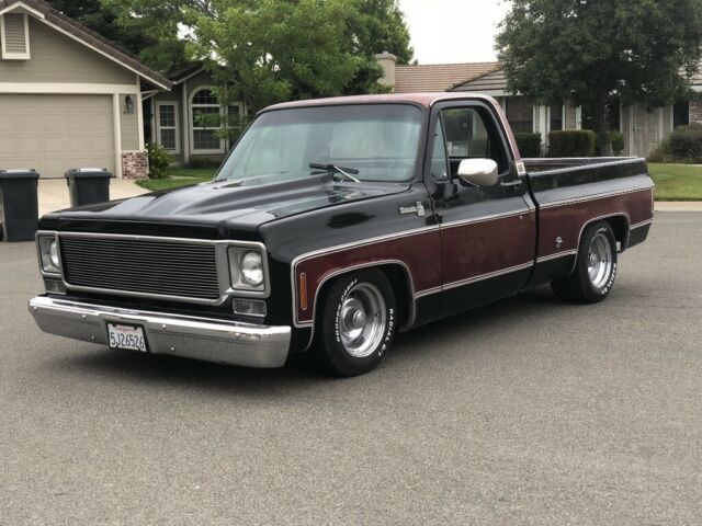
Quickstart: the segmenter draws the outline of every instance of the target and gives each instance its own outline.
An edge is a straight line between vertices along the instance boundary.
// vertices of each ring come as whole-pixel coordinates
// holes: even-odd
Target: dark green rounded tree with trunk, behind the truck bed
[[[508,89],[569,99],[605,130],[607,103],[661,106],[698,71],[702,0],[513,0],[497,36]]]

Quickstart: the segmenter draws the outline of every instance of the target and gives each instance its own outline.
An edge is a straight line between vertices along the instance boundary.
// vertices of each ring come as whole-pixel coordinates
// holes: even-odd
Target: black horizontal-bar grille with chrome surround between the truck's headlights
[[[69,287],[207,302],[220,297],[214,244],[61,236],[59,247]]]

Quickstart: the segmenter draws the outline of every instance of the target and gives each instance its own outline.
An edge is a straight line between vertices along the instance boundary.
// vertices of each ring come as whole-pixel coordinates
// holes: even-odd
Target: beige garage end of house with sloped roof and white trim
[[[141,98],[170,82],[42,0],[0,0],[0,169],[148,172]]]

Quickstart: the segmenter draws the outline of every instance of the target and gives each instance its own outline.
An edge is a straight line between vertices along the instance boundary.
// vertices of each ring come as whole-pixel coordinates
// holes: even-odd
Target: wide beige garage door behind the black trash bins
[[[80,167],[114,173],[112,96],[0,94],[0,169]]]

